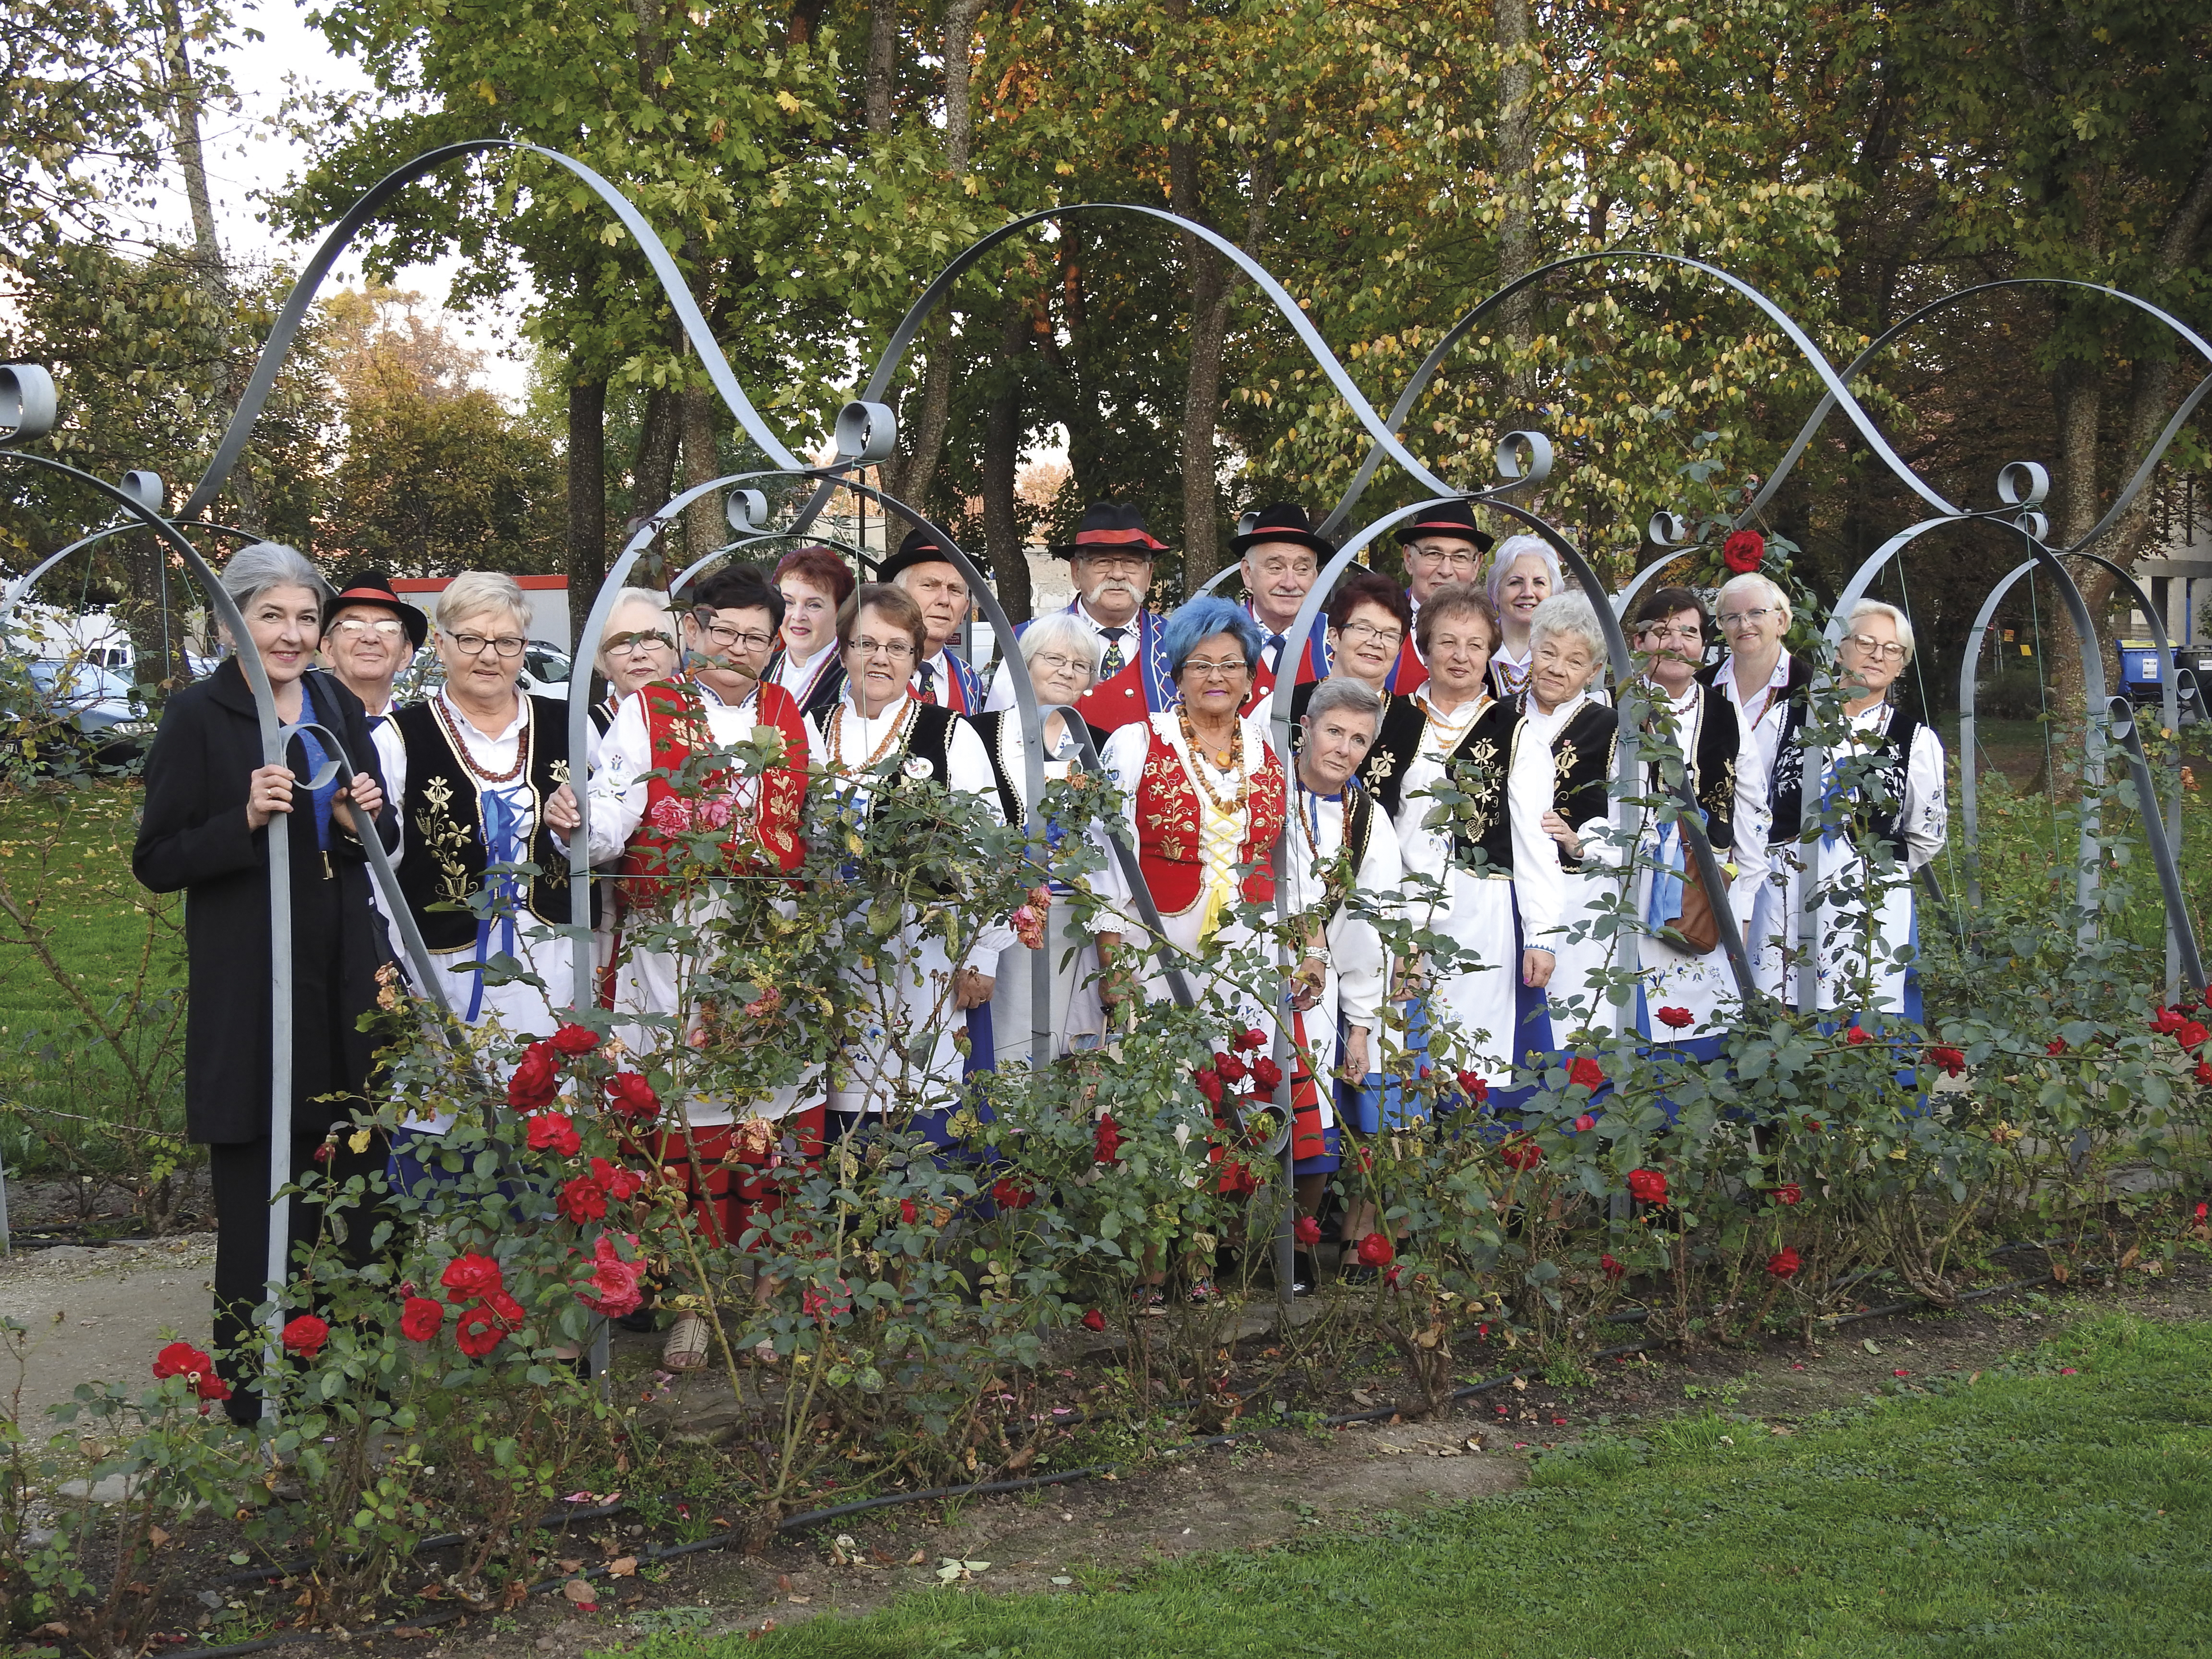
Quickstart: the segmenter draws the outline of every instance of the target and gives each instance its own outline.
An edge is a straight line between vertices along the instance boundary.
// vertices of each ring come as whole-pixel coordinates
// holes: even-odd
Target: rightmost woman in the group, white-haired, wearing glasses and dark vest
[[[1913,874],[1942,852],[1947,830],[1942,739],[1936,728],[1889,701],[1913,659],[1913,624],[1893,604],[1860,599],[1836,641],[1845,688],[1847,741],[1827,754],[1823,796],[1840,792],[1845,825],[1820,843],[1818,1004],[1871,1009],[1920,1020],[1920,933]],[[1792,732],[1774,765],[1774,830],[1796,838],[1816,830],[1805,803],[1803,732]],[[1887,849],[1876,867],[1860,845]],[[1794,898],[1794,894],[1792,894]],[[1796,916],[1787,909],[1792,945]],[[1792,984],[1783,995],[1796,998]]]

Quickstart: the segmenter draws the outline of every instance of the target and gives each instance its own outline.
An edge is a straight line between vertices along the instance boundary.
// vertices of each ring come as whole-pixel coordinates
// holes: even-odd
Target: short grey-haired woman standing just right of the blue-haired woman
[[[1292,830],[1283,845],[1285,909],[1307,929],[1290,998],[1298,1214],[1321,1208],[1323,1188],[1338,1168],[1338,1093],[1354,1110],[1369,1093],[1374,1033],[1389,989],[1383,936],[1352,902],[1354,894],[1391,902],[1405,880],[1398,836],[1356,776],[1380,717],[1383,699],[1374,688],[1332,675],[1307,703],[1298,743]],[[1360,1128],[1374,1133],[1376,1126],[1360,1121]],[[1292,1294],[1305,1294],[1314,1281],[1314,1259],[1298,1252]]]

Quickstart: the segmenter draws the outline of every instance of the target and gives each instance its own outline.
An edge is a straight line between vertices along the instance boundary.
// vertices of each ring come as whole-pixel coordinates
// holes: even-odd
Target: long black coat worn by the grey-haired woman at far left
[[[314,719],[338,737],[356,770],[376,774],[376,745],[356,699],[310,672]],[[186,1135],[210,1146],[270,1130],[270,878],[268,830],[246,825],[248,781],[261,765],[254,695],[237,659],[168,701],[146,754],[146,807],[131,869],[157,894],[184,891],[190,1006],[184,1040]],[[292,745],[294,772],[305,772]],[[383,776],[376,779],[383,785]],[[274,823],[274,821],[272,821]],[[372,1040],[356,1031],[376,1002],[385,929],[369,909],[367,854],[336,821],[330,869],[316,847],[305,790],[288,814],[292,847],[292,1115],[299,1137],[343,1121],[358,1095]],[[389,803],[378,814],[385,847],[398,845]]]

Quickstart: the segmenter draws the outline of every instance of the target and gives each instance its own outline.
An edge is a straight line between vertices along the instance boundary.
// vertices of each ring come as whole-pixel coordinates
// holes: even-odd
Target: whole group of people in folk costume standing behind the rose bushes
[[[1298,507],[1270,507],[1234,538],[1241,604],[1201,595],[1166,617],[1148,606],[1164,544],[1137,511],[1091,507],[1053,549],[1075,599],[1020,630],[1020,657],[1046,710],[1044,776],[1064,779],[1077,734],[1091,739],[1119,790],[1133,874],[1115,856],[1082,874],[1055,860],[1042,940],[1018,942],[1006,918],[987,916],[949,945],[945,929],[909,918],[898,949],[854,951],[852,973],[872,980],[867,1018],[838,1053],[768,1099],[681,1102],[684,1161],[706,1172],[703,1225],[737,1239],[763,1201],[745,1166],[765,1137],[748,1126],[774,1124],[801,1155],[885,1113],[947,1139],[973,1071],[1026,1062],[1033,1031],[1057,1055],[1108,1042],[1135,1000],[1168,993],[1166,967],[1206,978],[1248,942],[1248,902],[1279,900],[1296,940],[1281,993],[1245,984],[1237,998],[1250,1002],[1241,1018],[1281,1029],[1294,1051],[1279,1104],[1294,1121],[1307,1212],[1336,1168],[1343,1124],[1374,1133],[1402,1110],[1387,1084],[1402,1075],[1391,1044],[1453,1046],[1504,1106],[1531,1055],[1610,1024],[1608,995],[1628,998],[1650,1042],[1717,1051],[1739,1004],[1714,949],[1717,914],[1752,942],[1763,989],[1790,995],[1803,960],[1823,1006],[1916,1013],[1909,889],[1869,883],[1854,843],[1823,852],[1836,916],[1856,925],[1823,927],[1836,942],[1798,951],[1790,887],[1838,759],[1871,761],[1882,776],[1874,827],[1900,867],[1942,845],[1940,745],[1889,699],[1913,648],[1902,613],[1863,602],[1847,619],[1849,739],[1829,745],[1812,803],[1812,666],[1783,648],[1790,595],[1750,573],[1721,586],[1712,611],[1677,586],[1626,617],[1652,710],[1644,752],[1681,757],[1681,810],[1703,821],[1730,872],[1728,891],[1708,894],[1668,814],[1613,827],[1619,717],[1606,635],[1590,602],[1566,591],[1553,549],[1537,535],[1493,544],[1464,502],[1413,515],[1398,544],[1402,586],[1354,568],[1314,628],[1292,637],[1334,553]],[[394,898],[367,878],[367,836],[396,860],[396,902],[456,1018],[549,1035],[571,1004],[575,951],[593,949],[599,1004],[633,1053],[653,1055],[679,1037],[688,1009],[690,958],[670,938],[712,940],[726,920],[710,894],[668,880],[670,849],[701,823],[699,787],[675,783],[692,761],[708,768],[708,821],[726,827],[732,872],[801,867],[810,790],[856,816],[911,787],[967,796],[1002,823],[1037,805],[1011,666],[987,684],[958,653],[971,615],[960,562],[916,531],[874,575],[860,582],[836,551],[801,546],[768,573],[721,566],[679,602],[617,593],[595,657],[608,695],[591,710],[591,752],[573,757],[568,708],[520,686],[529,606],[511,577],[460,575],[429,617],[376,573],[332,588],[288,546],[232,555],[221,580],[246,637],[170,701],[135,852],[148,887],[188,894],[188,1133],[210,1146],[221,1349],[246,1345],[265,1292],[268,838],[283,834],[292,852],[296,1170],[367,1099],[374,1055],[358,1020],[380,967],[400,956]],[[442,677],[394,706],[425,641]],[[290,765],[261,761],[248,653],[283,721],[301,728]],[[1287,757],[1265,719],[1283,679]],[[770,765],[712,765],[763,730],[776,737]],[[349,776],[323,765],[325,741]],[[699,765],[690,772],[697,785]],[[1652,759],[1652,790],[1659,776]],[[580,832],[604,876],[586,894],[568,883]],[[1606,973],[1619,953],[1606,916],[1619,914],[1624,880],[1650,925],[1632,982]],[[1442,933],[1462,956],[1449,971],[1394,960],[1378,916]],[[1035,949],[1055,969],[1042,1011]],[[487,971],[502,956],[529,973]],[[1385,1018],[1391,1006],[1402,1018]],[[336,1137],[330,1175],[383,1164],[396,1183],[434,1179],[422,1139],[445,1128],[416,1121],[400,1144],[369,1150]],[[314,1225],[296,1203],[294,1234]],[[1312,1274],[1301,1261],[1301,1279]],[[703,1347],[703,1329],[679,1323],[670,1336],[675,1363]],[[241,1394],[234,1409],[252,1402]]]

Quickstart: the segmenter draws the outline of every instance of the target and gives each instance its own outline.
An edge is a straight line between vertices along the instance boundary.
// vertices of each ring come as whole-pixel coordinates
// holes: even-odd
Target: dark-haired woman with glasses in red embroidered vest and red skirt
[[[635,1055],[668,1048],[677,1035],[668,1022],[679,1013],[688,1015],[686,1040],[701,1029],[697,998],[686,998],[688,962],[672,949],[655,949],[657,925],[706,942],[730,914],[730,902],[712,891],[714,878],[772,878],[805,858],[799,818],[807,721],[787,690],[761,679],[781,622],[783,595],[750,564],[710,575],[684,617],[686,672],[626,697],[599,745],[591,852],[595,865],[619,858],[630,949],[615,964],[613,1006],[628,1018],[617,1035]],[[759,774],[706,761],[739,743],[776,743],[781,757]],[[679,852],[699,827],[726,830],[714,872],[701,872]],[[681,1077],[681,1066],[675,1071]],[[668,1104],[681,1108],[684,1126],[655,1137],[653,1161],[686,1172],[710,1241],[737,1243],[754,1208],[774,1208],[772,1190],[745,1170],[765,1170],[779,1150],[801,1159],[821,1150],[818,1077],[765,1099],[686,1091]],[[703,1360],[706,1325],[684,1314],[668,1334],[664,1363],[695,1369]]]

